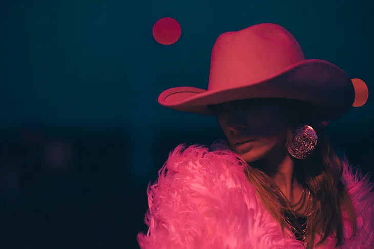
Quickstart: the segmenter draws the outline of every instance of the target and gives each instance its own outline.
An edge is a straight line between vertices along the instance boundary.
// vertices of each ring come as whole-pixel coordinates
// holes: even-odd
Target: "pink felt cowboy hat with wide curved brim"
[[[305,59],[296,38],[276,24],[221,34],[214,44],[207,89],[173,87],[163,106],[213,115],[207,105],[252,98],[282,98],[317,107],[321,120],[341,117],[355,101],[351,79],[338,66]]]

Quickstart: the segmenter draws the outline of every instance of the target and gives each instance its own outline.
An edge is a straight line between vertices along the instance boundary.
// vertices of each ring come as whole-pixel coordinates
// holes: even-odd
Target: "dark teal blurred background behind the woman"
[[[206,88],[218,35],[261,22],[282,25],[307,58],[337,64],[370,92],[370,2],[2,2],[2,248],[138,248],[145,191],[168,152],[222,138],[214,118],[159,106],[158,94]],[[182,28],[171,46],[152,36],[162,17]],[[369,95],[329,125],[337,151],[364,171],[374,163],[373,111]],[[43,137],[29,143],[23,128]]]

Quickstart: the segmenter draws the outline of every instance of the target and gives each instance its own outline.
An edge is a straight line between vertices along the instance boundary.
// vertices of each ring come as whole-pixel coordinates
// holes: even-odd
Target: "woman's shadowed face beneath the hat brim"
[[[226,139],[247,163],[284,150],[292,125],[289,105],[278,99],[239,100],[215,106]]]

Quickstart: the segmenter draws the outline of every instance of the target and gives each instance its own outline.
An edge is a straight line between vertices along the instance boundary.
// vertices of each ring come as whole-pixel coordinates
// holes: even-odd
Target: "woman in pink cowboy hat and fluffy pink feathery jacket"
[[[374,196],[330,148],[321,121],[352,106],[350,78],[306,60],[274,24],[220,35],[208,89],[159,103],[216,115],[227,143],[178,146],[148,191],[149,248],[374,248]]]

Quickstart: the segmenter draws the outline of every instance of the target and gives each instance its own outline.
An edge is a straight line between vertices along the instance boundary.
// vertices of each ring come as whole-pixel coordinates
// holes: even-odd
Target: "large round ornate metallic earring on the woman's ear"
[[[316,131],[308,126],[299,126],[292,139],[287,140],[288,153],[296,159],[306,159],[316,149],[318,137]]]

